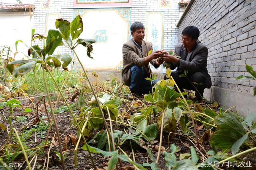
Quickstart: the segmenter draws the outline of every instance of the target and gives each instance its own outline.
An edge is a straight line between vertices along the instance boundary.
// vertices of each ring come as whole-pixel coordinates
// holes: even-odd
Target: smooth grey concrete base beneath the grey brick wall
[[[218,102],[223,109],[236,106],[232,111],[237,110],[238,114],[244,117],[256,112],[256,97],[251,94],[212,86],[204,90],[204,97],[208,101]]]

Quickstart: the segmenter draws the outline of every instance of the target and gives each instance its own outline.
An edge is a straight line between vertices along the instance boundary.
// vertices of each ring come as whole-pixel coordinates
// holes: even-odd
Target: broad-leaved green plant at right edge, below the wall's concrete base
[[[222,113],[215,117],[218,130],[211,135],[211,145],[219,149],[232,150],[236,154],[239,148],[256,146],[256,121],[252,124],[256,114],[248,116],[240,122],[238,116],[232,112]]]

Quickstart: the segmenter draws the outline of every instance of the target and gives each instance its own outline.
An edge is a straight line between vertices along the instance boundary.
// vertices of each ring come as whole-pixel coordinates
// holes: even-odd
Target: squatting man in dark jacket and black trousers
[[[181,91],[183,89],[194,90],[196,92],[196,100],[202,102],[205,88],[212,86],[211,77],[206,68],[208,48],[198,41],[200,31],[195,26],[188,26],[182,31],[182,44],[175,46],[175,53],[181,58],[169,55],[163,51],[162,59],[171,63],[171,76],[174,78]],[[186,77],[180,77],[187,70]]]

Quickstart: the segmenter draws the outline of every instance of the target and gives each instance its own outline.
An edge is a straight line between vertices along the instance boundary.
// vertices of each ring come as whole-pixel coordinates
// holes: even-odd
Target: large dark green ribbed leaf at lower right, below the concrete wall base
[[[246,132],[238,117],[234,113],[223,113],[215,117],[219,130],[211,135],[211,145],[222,150],[230,150],[232,145]]]

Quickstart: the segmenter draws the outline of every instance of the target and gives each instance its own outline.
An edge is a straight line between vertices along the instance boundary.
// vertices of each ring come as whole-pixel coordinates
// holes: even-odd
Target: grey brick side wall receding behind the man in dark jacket
[[[256,1],[195,0],[178,27],[195,25],[199,40],[209,50],[212,85],[253,94],[255,82],[235,80],[247,75],[245,64],[256,70]]]

